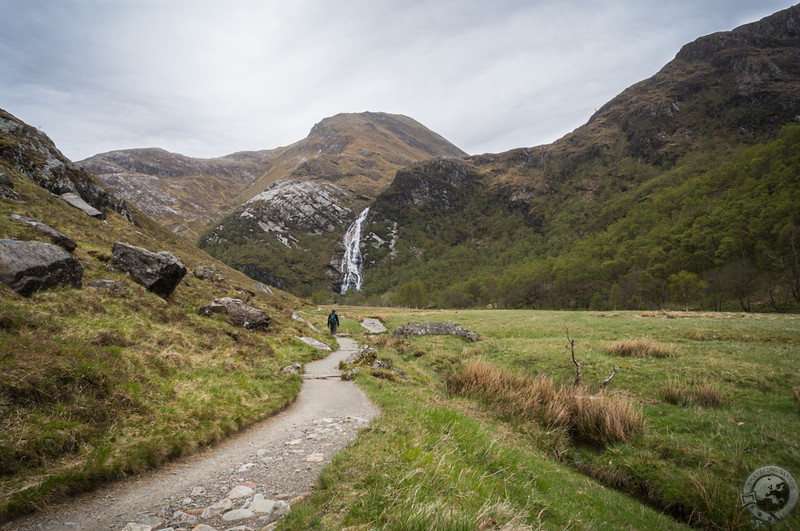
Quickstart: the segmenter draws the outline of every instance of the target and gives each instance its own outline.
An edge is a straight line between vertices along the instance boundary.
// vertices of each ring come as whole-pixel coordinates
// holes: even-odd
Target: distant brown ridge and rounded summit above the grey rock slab
[[[411,118],[339,114],[286,147],[197,159],[155,148],[95,155],[78,164],[176,233],[196,240],[209,224],[280,180],[328,181],[374,198],[405,165],[464,152]]]

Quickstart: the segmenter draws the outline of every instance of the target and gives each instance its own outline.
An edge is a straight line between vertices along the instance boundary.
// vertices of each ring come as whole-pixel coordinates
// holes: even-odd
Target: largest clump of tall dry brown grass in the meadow
[[[502,416],[566,429],[598,444],[627,442],[643,427],[641,412],[625,397],[589,396],[587,389],[557,386],[546,375],[530,379],[475,360],[448,381],[448,390],[489,402]]]

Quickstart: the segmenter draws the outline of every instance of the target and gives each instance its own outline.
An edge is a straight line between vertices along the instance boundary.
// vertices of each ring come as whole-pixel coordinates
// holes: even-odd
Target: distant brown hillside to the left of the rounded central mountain
[[[195,240],[270,167],[272,151],[197,159],[163,149],[101,153],[78,165],[171,231]]]

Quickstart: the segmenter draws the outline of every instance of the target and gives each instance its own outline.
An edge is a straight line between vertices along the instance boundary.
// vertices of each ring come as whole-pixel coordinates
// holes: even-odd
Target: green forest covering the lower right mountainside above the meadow
[[[621,159],[605,171],[598,193],[550,198],[539,205],[537,223],[490,194],[473,194],[458,211],[411,209],[397,252],[369,250],[375,265],[366,271],[364,292],[348,300],[412,307],[800,308],[800,126],[744,149],[720,143],[696,150],[669,168]]]

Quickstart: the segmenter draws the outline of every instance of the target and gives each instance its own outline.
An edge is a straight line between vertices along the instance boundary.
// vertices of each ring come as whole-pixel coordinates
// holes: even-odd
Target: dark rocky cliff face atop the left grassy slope
[[[0,169],[19,171],[56,195],[77,194],[100,212],[113,210],[133,221],[124,200],[106,192],[82,168],[73,164],[38,129],[0,109]]]

